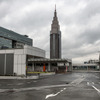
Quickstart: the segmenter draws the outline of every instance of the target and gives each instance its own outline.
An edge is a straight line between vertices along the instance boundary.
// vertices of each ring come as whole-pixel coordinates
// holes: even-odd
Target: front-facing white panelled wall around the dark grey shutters
[[[25,75],[26,54],[24,54],[24,49],[0,50],[0,54],[14,54],[13,73]]]

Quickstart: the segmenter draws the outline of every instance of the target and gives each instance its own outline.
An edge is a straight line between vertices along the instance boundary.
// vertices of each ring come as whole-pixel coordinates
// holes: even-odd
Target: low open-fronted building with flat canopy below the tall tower
[[[70,59],[29,59],[28,60],[28,71],[29,72],[43,72],[45,66],[46,72],[71,72],[72,71],[72,60]]]

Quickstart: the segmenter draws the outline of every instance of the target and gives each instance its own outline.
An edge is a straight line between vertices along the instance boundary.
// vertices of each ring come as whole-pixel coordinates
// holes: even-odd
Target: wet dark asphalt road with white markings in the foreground
[[[0,80],[0,100],[100,100],[100,73]]]

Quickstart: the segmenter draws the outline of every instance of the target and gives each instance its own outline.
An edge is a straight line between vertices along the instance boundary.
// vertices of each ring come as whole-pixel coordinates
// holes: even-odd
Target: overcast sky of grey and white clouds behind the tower
[[[100,0],[0,0],[0,26],[33,39],[49,58],[55,4],[62,32],[62,57],[98,59]]]

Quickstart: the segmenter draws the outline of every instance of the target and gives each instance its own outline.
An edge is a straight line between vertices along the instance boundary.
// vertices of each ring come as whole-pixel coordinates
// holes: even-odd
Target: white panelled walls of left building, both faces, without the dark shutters
[[[23,49],[0,50],[0,54],[14,54],[13,73],[26,75],[26,56],[45,57],[45,51],[36,47],[24,46]]]

